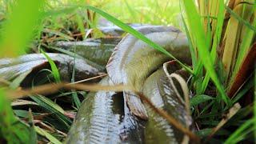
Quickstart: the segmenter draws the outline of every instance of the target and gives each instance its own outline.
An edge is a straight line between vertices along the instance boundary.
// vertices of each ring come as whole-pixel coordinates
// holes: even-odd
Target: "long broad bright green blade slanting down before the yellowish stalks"
[[[207,72],[209,72],[210,78],[213,80],[215,86],[221,94],[222,100],[226,102],[226,104],[230,105],[230,98],[227,97],[224,87],[218,80],[218,75],[214,70],[214,62],[212,62],[212,59],[210,58],[209,50],[206,49],[206,34],[204,33],[201,17],[196,10],[196,6],[192,0],[183,0],[183,3],[185,6],[190,30],[194,34],[194,39],[197,39],[198,54],[202,59],[203,65],[205,66]]]

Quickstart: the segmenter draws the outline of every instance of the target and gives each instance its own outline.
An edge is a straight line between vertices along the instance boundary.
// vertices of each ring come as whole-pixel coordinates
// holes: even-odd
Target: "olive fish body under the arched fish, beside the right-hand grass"
[[[177,66],[172,66],[170,73],[177,70]],[[176,85],[175,85],[176,86]],[[150,98],[158,109],[165,110],[173,116],[183,126],[191,124],[190,115],[187,114],[184,103],[178,99],[174,87],[170,85],[165,71],[160,68],[151,74],[144,83],[142,93]],[[171,126],[165,118],[159,117],[149,106],[146,106],[148,121],[145,128],[146,143],[181,143],[184,134]]]

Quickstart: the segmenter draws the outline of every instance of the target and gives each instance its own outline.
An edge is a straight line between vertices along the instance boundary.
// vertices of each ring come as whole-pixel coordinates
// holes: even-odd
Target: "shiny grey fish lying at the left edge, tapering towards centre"
[[[75,78],[81,80],[100,73],[100,70],[88,65],[82,58],[74,58],[66,54],[46,53],[58,66],[62,81],[70,82],[73,66]],[[49,68],[49,62],[43,54],[26,54],[18,58],[0,59],[0,77],[8,81],[21,74],[30,74],[32,70],[40,71]]]

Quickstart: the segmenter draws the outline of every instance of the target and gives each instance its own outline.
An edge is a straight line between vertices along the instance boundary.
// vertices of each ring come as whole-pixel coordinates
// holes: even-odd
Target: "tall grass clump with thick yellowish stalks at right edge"
[[[210,102],[210,105],[213,105],[210,113],[225,111],[226,106],[224,106],[224,108],[221,104],[222,102],[226,102],[227,106],[231,106],[232,103],[234,104],[234,102],[238,102],[238,97],[229,95],[230,97],[234,97],[234,99],[231,100],[227,96],[227,92],[230,85],[232,85],[233,78],[238,74],[238,69],[241,68],[242,61],[246,58],[246,55],[251,48],[255,34],[255,3],[253,3],[253,1],[246,1],[250,4],[246,2],[242,3],[242,1],[238,0],[230,0],[227,2],[229,2],[229,6],[231,6],[230,3],[232,3],[233,7],[226,6],[223,0],[198,0],[198,6],[196,6],[192,0],[183,1],[187,16],[187,25],[189,27],[188,31],[190,32],[188,36],[192,39],[194,50],[196,50],[198,54],[198,63],[194,63],[196,65],[194,66],[196,71],[194,77],[199,78],[194,80],[195,83],[202,82],[202,79],[200,79],[202,73],[200,74],[199,72],[202,71],[200,63],[202,62],[206,68],[206,76],[202,85],[195,85],[196,93],[204,93],[211,78],[218,89],[218,93],[222,95],[221,99],[217,96],[216,99]],[[225,12],[226,15],[230,15],[228,22],[225,22]],[[243,33],[245,31],[246,34]],[[242,41],[241,44],[238,42],[239,40]],[[222,62],[224,67],[218,65],[218,63]],[[216,73],[215,70],[223,72]],[[250,77],[250,75],[247,75],[247,77]],[[246,83],[246,79],[244,83]],[[250,90],[253,85],[255,86],[254,82],[247,81],[246,86],[241,86],[241,93],[237,93],[239,98],[242,98],[245,95],[245,92]],[[216,103],[216,101],[218,103],[221,102],[221,105]],[[209,107],[206,106],[207,109],[210,108],[210,105]],[[199,114],[202,114],[203,116],[206,111],[206,109],[203,109]],[[209,122],[214,122],[214,119],[216,118],[222,118],[218,116],[218,114],[216,114],[215,117],[211,117],[211,119],[208,119]],[[250,122],[251,121],[249,120],[239,127],[234,134],[231,134],[226,143],[240,142],[244,140],[251,131],[255,131],[253,128],[249,131],[243,131],[250,125]],[[243,133],[243,136],[238,137],[241,133]]]

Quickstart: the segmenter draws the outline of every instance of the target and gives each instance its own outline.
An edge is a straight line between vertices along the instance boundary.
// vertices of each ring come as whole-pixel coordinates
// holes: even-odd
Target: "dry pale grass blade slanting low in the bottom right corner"
[[[206,138],[206,142],[208,142],[208,140],[210,140],[210,138],[212,138],[212,136],[222,127],[226,124],[226,122],[228,122],[228,120],[230,118],[232,118],[234,116],[234,114],[236,114],[238,112],[238,110],[240,110],[241,106],[239,103],[235,103],[233,107],[230,108],[229,112],[225,115],[224,118],[222,118],[222,121],[218,123],[218,125],[216,127],[214,127],[214,129],[211,131],[211,133],[209,134],[208,138]]]

